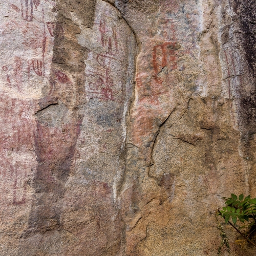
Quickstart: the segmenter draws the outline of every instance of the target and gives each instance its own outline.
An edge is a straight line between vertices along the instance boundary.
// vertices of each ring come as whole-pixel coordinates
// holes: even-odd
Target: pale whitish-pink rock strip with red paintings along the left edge
[[[54,19],[53,3],[1,3],[1,227],[3,255],[15,255],[28,226],[37,168],[36,119],[41,89],[50,73],[52,36],[46,21]],[[12,249],[13,248],[13,249]]]

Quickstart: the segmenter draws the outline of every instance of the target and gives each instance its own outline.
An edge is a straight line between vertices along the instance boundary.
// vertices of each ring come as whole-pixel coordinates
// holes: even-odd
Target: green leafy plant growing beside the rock
[[[244,197],[244,195],[241,194],[238,197],[231,194],[230,198],[223,197],[223,199],[226,200],[226,206],[222,207],[222,210],[216,210],[218,229],[220,230],[222,238],[218,254],[220,254],[223,245],[226,245],[227,250],[230,252],[227,236],[223,227],[220,225],[218,216],[223,217],[225,219],[225,224],[230,224],[241,234],[243,239],[237,240],[236,242],[240,244],[242,248],[246,241],[256,247],[256,244],[251,241],[251,236],[256,230],[256,198],[252,199],[250,195]]]

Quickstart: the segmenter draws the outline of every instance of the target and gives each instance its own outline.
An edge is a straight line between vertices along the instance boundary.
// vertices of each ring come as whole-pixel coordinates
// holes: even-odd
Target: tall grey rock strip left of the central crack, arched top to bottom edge
[[[67,251],[76,248],[77,255],[122,255],[123,222],[116,200],[125,171],[123,152],[134,88],[136,40],[120,13],[103,1],[96,3],[91,29],[84,28],[75,15],[73,20],[80,24],[79,44],[89,50],[84,61],[84,117],[64,199],[73,206],[63,207],[61,221],[63,228],[91,242],[82,245],[77,241]],[[90,219],[81,219],[81,215]],[[74,218],[74,224],[68,218]]]

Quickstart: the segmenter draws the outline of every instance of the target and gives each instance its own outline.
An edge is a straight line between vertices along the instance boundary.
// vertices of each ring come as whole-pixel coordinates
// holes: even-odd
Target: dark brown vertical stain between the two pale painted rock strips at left
[[[85,64],[88,50],[77,42],[78,25],[71,12],[92,27],[95,15],[94,0],[58,1],[50,85],[42,91],[40,110],[35,114],[35,152],[37,169],[33,179],[35,191],[24,237],[61,228],[61,198],[69,177],[82,115],[80,105],[85,100]]]

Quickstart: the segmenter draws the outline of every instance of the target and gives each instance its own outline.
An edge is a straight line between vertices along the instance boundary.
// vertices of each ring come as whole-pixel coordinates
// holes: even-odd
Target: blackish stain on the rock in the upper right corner
[[[233,8],[237,13],[240,25],[240,45],[245,52],[252,86],[250,89],[246,89],[248,87],[245,84],[246,81],[242,77],[240,78],[240,127],[242,141],[247,141],[247,135],[256,132],[256,2],[254,0],[234,0]]]

